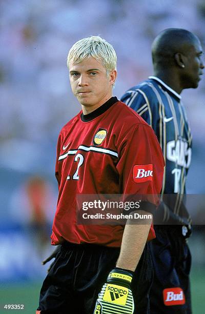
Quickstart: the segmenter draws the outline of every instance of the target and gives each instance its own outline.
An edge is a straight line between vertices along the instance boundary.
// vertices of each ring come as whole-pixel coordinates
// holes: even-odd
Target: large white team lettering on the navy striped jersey
[[[188,143],[182,140],[167,143],[167,159],[178,166],[189,168],[192,150]]]

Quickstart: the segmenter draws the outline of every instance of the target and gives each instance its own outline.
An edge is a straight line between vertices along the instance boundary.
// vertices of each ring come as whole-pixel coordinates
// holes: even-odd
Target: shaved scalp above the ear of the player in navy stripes
[[[154,65],[173,66],[176,53],[187,54],[190,47],[199,42],[198,37],[188,30],[168,28],[160,32],[152,44]]]

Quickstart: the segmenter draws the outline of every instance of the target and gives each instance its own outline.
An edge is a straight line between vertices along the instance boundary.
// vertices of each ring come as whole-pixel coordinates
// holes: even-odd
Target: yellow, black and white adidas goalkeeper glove
[[[131,281],[131,272],[114,268],[98,295],[94,314],[133,314],[134,300],[130,289]]]

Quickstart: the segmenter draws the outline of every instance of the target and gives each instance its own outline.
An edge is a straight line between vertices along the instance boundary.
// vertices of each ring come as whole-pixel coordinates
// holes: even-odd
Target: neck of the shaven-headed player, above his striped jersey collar
[[[178,94],[181,93],[182,88],[180,86],[180,81],[178,75],[176,75],[173,71],[155,71],[154,76],[160,78],[165,84],[167,84],[170,88],[176,91]]]

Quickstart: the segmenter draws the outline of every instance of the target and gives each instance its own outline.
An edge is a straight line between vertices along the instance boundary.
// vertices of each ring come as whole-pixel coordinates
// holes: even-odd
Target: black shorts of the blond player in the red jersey
[[[118,256],[119,248],[92,244],[62,245],[40,290],[40,313],[92,314],[98,293],[108,273],[116,266]],[[150,313],[152,281],[153,266],[146,244],[131,286],[137,314]]]

